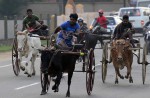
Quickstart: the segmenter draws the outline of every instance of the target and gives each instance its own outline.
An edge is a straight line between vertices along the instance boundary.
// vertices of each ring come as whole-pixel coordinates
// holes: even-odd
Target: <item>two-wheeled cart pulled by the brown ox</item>
[[[150,64],[147,61],[147,44],[144,43],[143,47],[141,47],[140,44],[140,39],[138,39],[139,41],[135,43],[136,48],[129,48],[129,50],[132,51],[132,54],[135,55],[137,57],[137,63],[138,64],[142,64],[142,81],[143,84],[145,83],[145,78],[146,78],[146,66],[148,64]],[[102,74],[102,81],[103,83],[105,83],[106,80],[106,75],[107,75],[107,65],[108,63],[112,62],[112,58],[111,58],[111,43],[110,42],[106,42],[104,44],[103,47],[103,52],[102,52],[102,70],[101,70],[101,74]],[[134,51],[137,51],[137,53],[135,54]],[[132,59],[132,58],[131,58]],[[133,80],[131,79],[131,81],[129,80],[130,83],[133,82]]]

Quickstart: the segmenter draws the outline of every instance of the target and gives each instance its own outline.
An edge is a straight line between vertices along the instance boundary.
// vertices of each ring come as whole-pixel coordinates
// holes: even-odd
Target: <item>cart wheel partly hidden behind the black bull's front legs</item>
[[[48,74],[44,74],[41,72],[41,87],[42,89],[46,88],[46,92],[49,90],[51,82],[51,77]]]

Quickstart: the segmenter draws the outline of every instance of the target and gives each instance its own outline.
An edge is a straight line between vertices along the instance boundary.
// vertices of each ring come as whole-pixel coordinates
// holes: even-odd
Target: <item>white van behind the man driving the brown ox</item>
[[[119,17],[129,15],[129,21],[133,24],[136,33],[143,33],[143,26],[149,21],[150,8],[148,7],[124,7],[119,9]]]

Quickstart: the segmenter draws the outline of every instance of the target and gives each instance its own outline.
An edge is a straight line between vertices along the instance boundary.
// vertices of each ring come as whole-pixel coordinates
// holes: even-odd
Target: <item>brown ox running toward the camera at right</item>
[[[132,62],[133,62],[133,53],[130,49],[132,45],[130,44],[130,40],[124,40],[124,39],[118,39],[114,40],[111,43],[111,59],[115,68],[116,72],[116,80],[115,84],[118,84],[118,76],[121,79],[124,79],[124,76],[122,76],[119,72],[119,68],[123,69],[124,66],[127,67],[127,74],[125,75],[125,78],[129,78],[129,82],[133,83],[133,79],[131,76],[131,69],[132,69]]]

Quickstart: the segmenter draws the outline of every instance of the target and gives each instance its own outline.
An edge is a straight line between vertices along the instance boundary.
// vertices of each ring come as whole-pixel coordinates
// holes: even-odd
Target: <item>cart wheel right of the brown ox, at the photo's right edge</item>
[[[146,65],[147,65],[147,44],[144,44],[143,47],[143,63],[142,63],[142,80],[143,84],[145,83],[145,78],[146,78]]]

